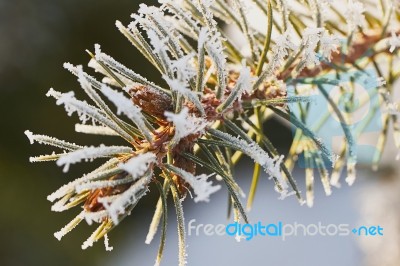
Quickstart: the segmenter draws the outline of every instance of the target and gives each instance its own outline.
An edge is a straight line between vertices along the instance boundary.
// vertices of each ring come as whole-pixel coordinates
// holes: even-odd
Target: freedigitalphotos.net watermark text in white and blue
[[[254,224],[202,224],[196,223],[192,219],[187,227],[188,236],[232,236],[235,238],[243,238],[245,240],[252,240],[255,237],[273,237],[283,241],[290,237],[297,236],[323,236],[323,237],[347,237],[350,235],[355,236],[370,236],[379,237],[383,236],[383,227],[380,225],[362,225],[358,227],[351,227],[350,224],[323,224],[318,223],[283,223],[278,221],[276,223],[263,223],[257,222]]]

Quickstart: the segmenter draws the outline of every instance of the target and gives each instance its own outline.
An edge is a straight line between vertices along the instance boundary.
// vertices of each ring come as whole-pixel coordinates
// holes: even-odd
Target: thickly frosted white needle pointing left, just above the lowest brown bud
[[[58,166],[64,166],[63,171],[68,172],[71,164],[78,163],[82,160],[93,160],[96,158],[115,156],[121,153],[132,153],[133,150],[129,147],[123,146],[105,146],[100,145],[99,147],[84,147],[82,149],[66,153],[57,160]]]

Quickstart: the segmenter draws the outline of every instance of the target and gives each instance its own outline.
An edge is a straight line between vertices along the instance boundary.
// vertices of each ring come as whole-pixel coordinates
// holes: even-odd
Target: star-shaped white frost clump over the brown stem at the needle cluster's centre
[[[165,117],[172,122],[175,127],[175,135],[171,140],[172,144],[177,144],[179,140],[196,133],[201,133],[207,126],[207,120],[189,115],[189,109],[184,107],[179,114],[165,112]]]

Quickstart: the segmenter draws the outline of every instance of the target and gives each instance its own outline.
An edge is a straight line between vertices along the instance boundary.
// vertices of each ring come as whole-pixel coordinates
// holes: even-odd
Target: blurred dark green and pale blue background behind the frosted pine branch
[[[102,243],[82,251],[81,243],[94,230],[82,223],[61,242],[53,233],[69,222],[79,210],[50,211],[48,194],[62,184],[95,167],[76,165],[63,174],[54,163],[32,165],[29,156],[48,153],[49,147],[29,145],[23,132],[55,136],[78,144],[98,145],[109,139],[74,133],[77,118],[68,118],[62,107],[45,96],[50,87],[75,90],[76,79],[62,68],[64,62],[87,65],[85,49],[95,43],[115,59],[155,82],[154,69],[116,30],[115,20],[130,21],[141,2],[128,0],[0,0],[0,265],[153,265],[158,238],[144,244],[157,200],[150,193],[116,230],[110,233],[113,252]],[[275,121],[267,125],[269,137],[280,143],[282,151],[291,141],[289,129]],[[115,143],[115,142],[113,142]],[[390,146],[390,144],[389,144]],[[335,189],[323,195],[317,180],[315,206],[299,206],[294,198],[279,201],[271,182],[262,179],[252,221],[285,223],[380,224],[385,228],[380,239],[354,237],[298,237],[285,242],[258,238],[237,243],[230,237],[188,237],[189,265],[309,265],[309,266],[397,266],[399,260],[400,219],[398,172],[393,153],[380,172],[361,171],[355,186]],[[397,162],[398,163],[398,162]],[[236,178],[247,191],[251,170],[244,161]],[[303,187],[303,172],[295,175]],[[227,224],[226,191],[212,197],[209,204],[185,202],[186,221]],[[171,209],[167,249],[163,265],[177,265],[177,237]],[[378,255],[377,255],[378,254]]]

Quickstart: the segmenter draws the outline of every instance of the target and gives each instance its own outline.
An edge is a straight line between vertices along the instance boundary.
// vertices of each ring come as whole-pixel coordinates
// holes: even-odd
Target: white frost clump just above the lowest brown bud
[[[151,152],[138,154],[137,156],[129,159],[126,163],[121,163],[119,168],[128,172],[133,179],[143,176],[149,169],[150,164],[156,162],[156,155]]]

